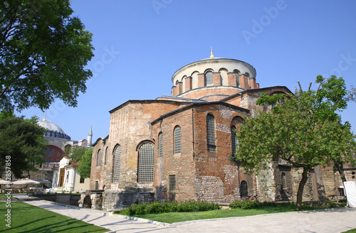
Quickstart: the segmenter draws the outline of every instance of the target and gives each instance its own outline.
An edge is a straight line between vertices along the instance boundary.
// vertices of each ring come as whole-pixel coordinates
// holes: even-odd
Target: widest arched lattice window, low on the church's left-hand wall
[[[151,143],[143,143],[138,151],[138,182],[153,182],[153,163],[155,147]]]

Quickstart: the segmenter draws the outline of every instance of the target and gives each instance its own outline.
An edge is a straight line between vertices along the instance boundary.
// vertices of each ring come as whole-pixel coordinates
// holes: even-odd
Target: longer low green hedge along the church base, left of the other
[[[153,202],[151,204],[142,203],[140,205],[132,205],[121,210],[122,215],[150,215],[164,212],[199,212],[207,210],[220,210],[219,205],[207,202]]]

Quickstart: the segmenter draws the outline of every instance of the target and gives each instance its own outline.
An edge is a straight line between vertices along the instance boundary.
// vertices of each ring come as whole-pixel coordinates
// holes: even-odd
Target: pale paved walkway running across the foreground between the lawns
[[[77,220],[105,227],[112,232],[344,232],[356,228],[356,208],[337,208],[271,215],[231,217],[219,220],[199,220],[176,224],[159,224],[149,220],[132,220],[121,215],[110,215],[101,210],[90,210],[39,200],[27,195],[14,195],[21,201]]]

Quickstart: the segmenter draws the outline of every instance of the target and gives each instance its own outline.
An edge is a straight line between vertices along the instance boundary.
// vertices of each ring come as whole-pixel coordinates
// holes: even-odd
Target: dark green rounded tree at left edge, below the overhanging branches
[[[16,178],[23,172],[36,170],[34,165],[43,163],[45,129],[38,126],[38,119],[23,119],[10,113],[0,113],[0,171],[11,169]]]

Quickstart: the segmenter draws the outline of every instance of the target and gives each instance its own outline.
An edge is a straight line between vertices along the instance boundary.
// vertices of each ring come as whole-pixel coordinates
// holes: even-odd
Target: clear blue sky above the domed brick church
[[[171,94],[180,67],[209,58],[243,60],[260,87],[307,89],[317,75],[344,77],[356,87],[356,1],[73,0],[93,33],[94,77],[78,107],[56,101],[46,118],[74,140],[109,133],[109,111],[129,99]],[[315,87],[315,85],[313,85]],[[316,88],[316,87],[315,87]],[[356,132],[356,104],[342,112]],[[43,119],[41,110],[21,113]]]

